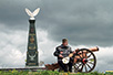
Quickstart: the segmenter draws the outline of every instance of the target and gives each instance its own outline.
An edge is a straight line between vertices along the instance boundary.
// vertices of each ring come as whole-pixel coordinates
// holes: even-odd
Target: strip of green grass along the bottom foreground
[[[103,73],[99,73],[99,72],[92,72],[92,73],[63,73],[63,72],[52,72],[52,71],[38,71],[38,72],[31,72],[31,71],[9,71],[9,72],[4,72],[4,71],[0,71],[0,75],[105,75]]]

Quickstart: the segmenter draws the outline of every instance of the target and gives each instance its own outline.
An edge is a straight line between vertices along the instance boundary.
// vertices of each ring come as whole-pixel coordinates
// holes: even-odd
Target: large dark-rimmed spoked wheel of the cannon
[[[78,58],[78,61],[73,63],[74,72],[89,73],[92,72],[96,65],[95,55],[88,49],[79,50],[74,58]]]

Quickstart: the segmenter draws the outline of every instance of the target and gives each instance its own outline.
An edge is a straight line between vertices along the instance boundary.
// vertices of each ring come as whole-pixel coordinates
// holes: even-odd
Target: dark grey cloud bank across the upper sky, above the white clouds
[[[8,3],[8,4],[7,4]],[[112,45],[113,6],[109,0],[81,1],[2,1],[0,22],[10,30],[28,30],[24,8],[33,11],[40,7],[37,29],[49,32],[49,39],[61,41],[68,38],[73,45]]]

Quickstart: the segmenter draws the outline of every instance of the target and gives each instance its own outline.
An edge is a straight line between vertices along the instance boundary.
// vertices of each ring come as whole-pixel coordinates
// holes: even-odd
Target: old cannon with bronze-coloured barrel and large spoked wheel
[[[96,57],[93,52],[99,51],[99,47],[93,49],[80,49],[75,54],[71,53],[69,57],[73,57],[74,72],[89,73],[92,72],[96,65]],[[62,60],[63,63],[68,63],[68,57]],[[47,69],[54,71],[60,68],[58,63],[45,64]]]

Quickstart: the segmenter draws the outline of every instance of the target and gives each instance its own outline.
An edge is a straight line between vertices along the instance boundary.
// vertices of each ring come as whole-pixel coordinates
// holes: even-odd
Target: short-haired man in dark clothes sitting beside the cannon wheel
[[[62,44],[55,49],[55,52],[53,53],[54,56],[58,56],[58,63],[63,68],[64,72],[68,72],[68,68],[65,67],[65,64],[63,64],[62,58],[69,56],[72,52],[71,47],[68,45],[68,40],[63,39]],[[69,66],[69,71],[72,72],[72,58],[70,58],[70,62],[66,64]]]

